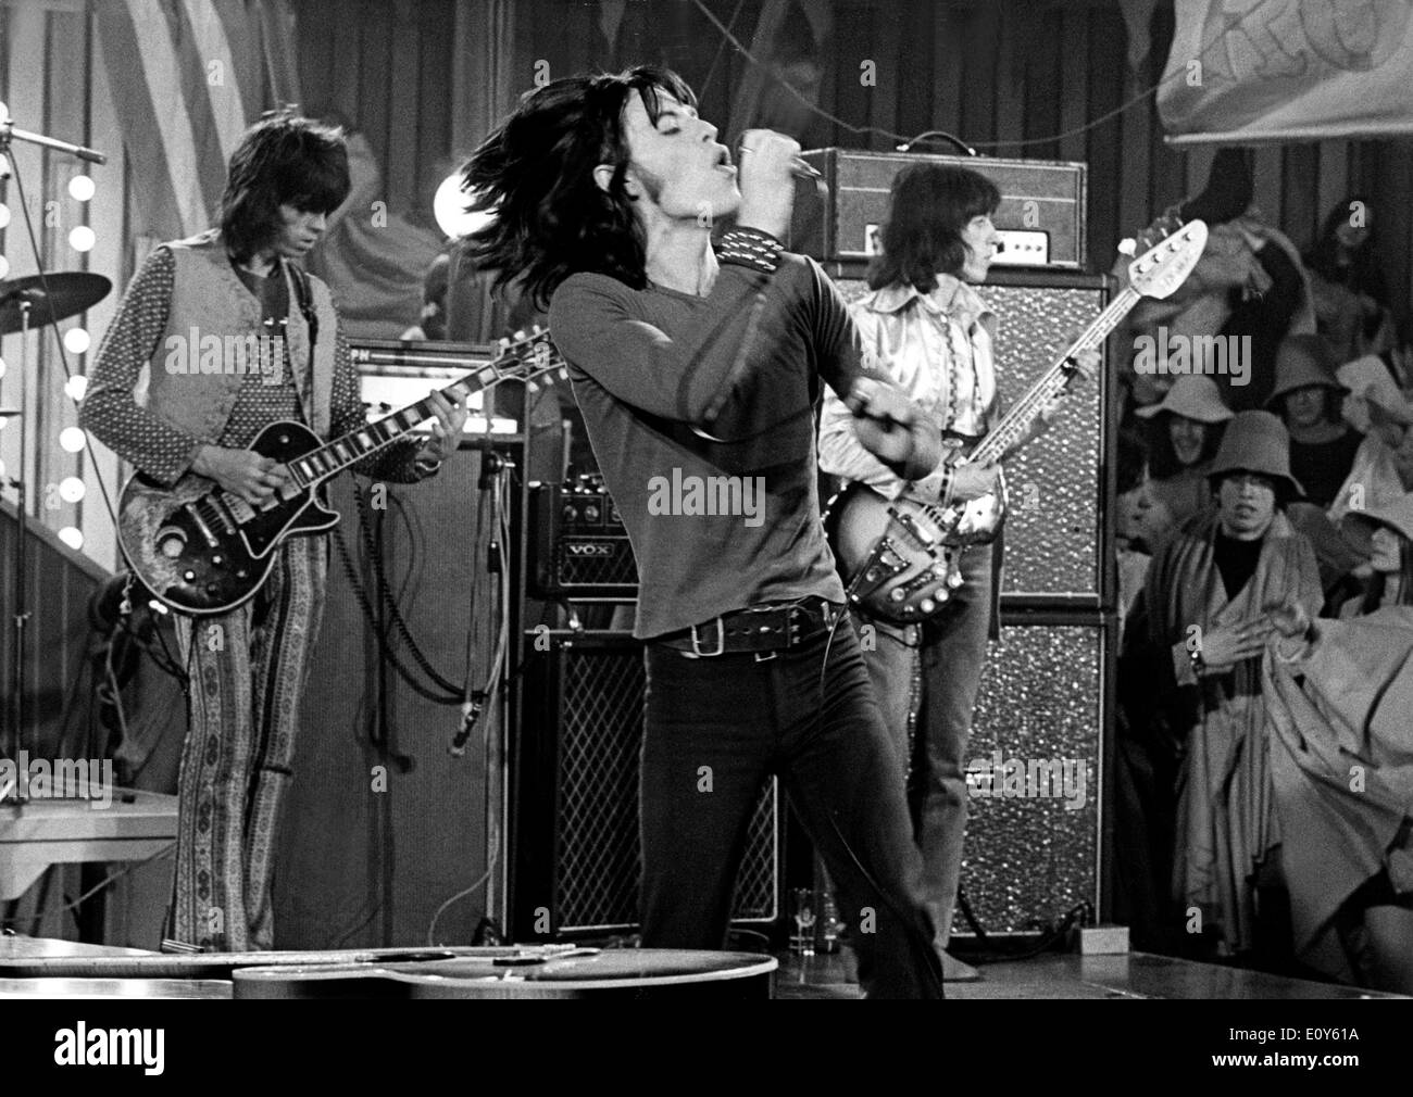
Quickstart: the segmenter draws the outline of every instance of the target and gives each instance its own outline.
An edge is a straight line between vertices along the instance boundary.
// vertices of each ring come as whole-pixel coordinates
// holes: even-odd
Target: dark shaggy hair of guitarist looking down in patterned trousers
[[[230,154],[220,196],[226,250],[243,263],[278,236],[280,206],[332,213],[350,186],[343,130],[288,110],[266,116]]]

